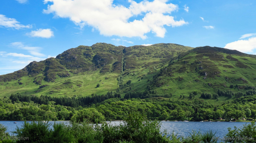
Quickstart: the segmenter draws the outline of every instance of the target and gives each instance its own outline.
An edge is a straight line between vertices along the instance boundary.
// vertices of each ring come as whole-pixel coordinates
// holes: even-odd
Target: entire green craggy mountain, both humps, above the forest
[[[86,96],[108,91],[124,95],[154,90],[179,97],[192,91],[245,91],[256,85],[255,71],[256,56],[236,50],[97,43],[71,48],[56,58],[31,62],[22,70],[0,76],[0,96]]]

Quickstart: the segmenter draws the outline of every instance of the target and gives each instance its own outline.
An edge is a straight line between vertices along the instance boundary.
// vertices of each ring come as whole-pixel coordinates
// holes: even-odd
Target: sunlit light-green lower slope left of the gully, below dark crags
[[[40,85],[33,83],[33,77],[22,77],[22,85],[19,85],[17,81],[10,81],[3,83],[0,86],[1,96],[10,96],[12,93],[23,93],[25,95],[91,95],[105,94],[108,91],[116,90],[118,74],[110,73],[108,75],[101,75],[99,71],[90,72],[86,75],[75,75],[67,78],[58,78],[55,82],[42,81],[42,85],[49,85],[44,88],[39,88]],[[108,79],[105,79],[108,77]],[[99,82],[102,80],[101,82]],[[97,84],[101,84],[96,88]],[[104,84],[102,84],[104,83]]]

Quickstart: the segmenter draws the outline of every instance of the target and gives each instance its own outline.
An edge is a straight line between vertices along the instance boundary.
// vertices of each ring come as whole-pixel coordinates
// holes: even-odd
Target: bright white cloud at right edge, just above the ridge
[[[238,40],[228,43],[224,48],[238,50],[240,52],[253,52],[256,49],[256,37],[247,40]]]

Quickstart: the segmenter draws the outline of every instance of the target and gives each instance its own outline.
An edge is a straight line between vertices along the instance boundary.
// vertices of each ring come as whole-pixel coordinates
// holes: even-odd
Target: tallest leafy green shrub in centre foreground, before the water
[[[160,133],[159,121],[148,121],[145,115],[133,112],[120,125],[102,124],[96,131],[104,137],[104,143],[168,143],[166,132]]]

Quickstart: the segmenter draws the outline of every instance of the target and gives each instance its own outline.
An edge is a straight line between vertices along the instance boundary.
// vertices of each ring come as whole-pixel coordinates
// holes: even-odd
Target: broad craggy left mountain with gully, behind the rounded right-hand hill
[[[22,70],[27,76],[19,76],[19,71],[0,76],[3,79],[0,80],[0,96],[12,93],[52,96],[105,94],[117,90],[119,75],[123,76],[124,83],[132,80],[132,90],[141,91],[145,90],[146,81],[152,79],[160,67],[179,53],[192,49],[176,44],[133,46],[123,51],[124,48],[105,43],[79,46],[65,51],[56,59],[29,64]],[[125,62],[124,66],[122,62]],[[145,78],[138,81],[142,76]],[[19,85],[19,82],[23,84]],[[96,88],[98,83],[100,87]],[[49,86],[40,88],[41,85]]]

